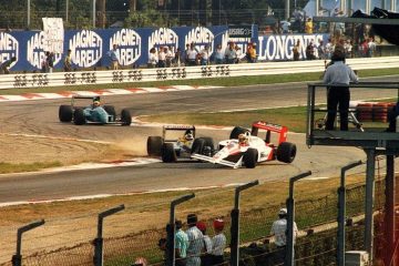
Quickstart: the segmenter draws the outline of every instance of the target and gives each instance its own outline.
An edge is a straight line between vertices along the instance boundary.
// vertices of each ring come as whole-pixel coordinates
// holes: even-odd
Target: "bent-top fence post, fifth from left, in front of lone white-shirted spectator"
[[[285,256],[285,266],[294,265],[294,219],[295,219],[295,200],[294,200],[294,183],[306,176],[311,175],[311,172],[298,174],[289,178],[289,197],[287,198],[287,252]]]

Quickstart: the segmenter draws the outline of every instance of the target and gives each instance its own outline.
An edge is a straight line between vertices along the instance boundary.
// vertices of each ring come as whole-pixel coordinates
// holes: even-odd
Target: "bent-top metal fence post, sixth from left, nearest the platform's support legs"
[[[346,219],[346,188],[345,188],[345,173],[358,165],[361,161],[350,163],[341,167],[340,186],[338,188],[338,233],[337,233],[337,265],[345,265],[345,219]]]

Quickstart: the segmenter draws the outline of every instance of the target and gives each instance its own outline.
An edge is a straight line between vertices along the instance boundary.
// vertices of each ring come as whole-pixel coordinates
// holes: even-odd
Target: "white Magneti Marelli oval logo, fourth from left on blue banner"
[[[130,29],[116,31],[110,39],[110,50],[117,45],[116,57],[121,65],[133,64],[141,57],[141,37]]]

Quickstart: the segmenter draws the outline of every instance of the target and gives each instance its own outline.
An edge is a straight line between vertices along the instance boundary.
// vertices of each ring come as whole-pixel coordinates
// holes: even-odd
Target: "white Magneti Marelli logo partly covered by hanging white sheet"
[[[27,60],[37,69],[45,60],[45,33],[43,31],[33,34],[27,43]],[[54,54],[54,65],[61,61],[62,54]]]

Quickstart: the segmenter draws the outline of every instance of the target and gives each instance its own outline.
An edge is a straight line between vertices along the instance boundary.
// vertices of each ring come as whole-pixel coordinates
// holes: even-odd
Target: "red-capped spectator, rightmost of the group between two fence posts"
[[[212,265],[222,265],[224,263],[224,249],[226,247],[226,236],[223,233],[224,221],[217,218],[213,223],[215,236],[212,238]]]

